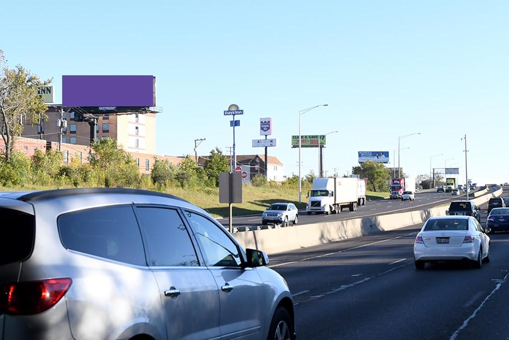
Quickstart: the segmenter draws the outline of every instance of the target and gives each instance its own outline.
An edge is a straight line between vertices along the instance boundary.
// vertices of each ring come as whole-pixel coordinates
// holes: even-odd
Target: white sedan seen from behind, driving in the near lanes
[[[471,216],[432,217],[414,242],[415,268],[429,261],[471,260],[476,268],[490,261],[490,237]]]

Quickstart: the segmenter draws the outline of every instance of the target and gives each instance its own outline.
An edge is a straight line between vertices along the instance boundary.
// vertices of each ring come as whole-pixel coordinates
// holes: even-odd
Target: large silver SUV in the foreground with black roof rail
[[[267,255],[182,199],[7,193],[0,216],[0,339],[295,337],[292,295]]]

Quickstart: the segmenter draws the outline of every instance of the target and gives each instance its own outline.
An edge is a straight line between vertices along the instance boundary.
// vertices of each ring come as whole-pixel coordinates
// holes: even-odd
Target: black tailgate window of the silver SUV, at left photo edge
[[[0,216],[0,265],[30,257],[34,248],[34,216],[6,208],[0,208]]]

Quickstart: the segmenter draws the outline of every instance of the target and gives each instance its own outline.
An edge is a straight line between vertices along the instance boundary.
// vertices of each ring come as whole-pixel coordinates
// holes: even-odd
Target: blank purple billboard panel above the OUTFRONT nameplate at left
[[[153,75],[63,75],[64,107],[154,107]]]

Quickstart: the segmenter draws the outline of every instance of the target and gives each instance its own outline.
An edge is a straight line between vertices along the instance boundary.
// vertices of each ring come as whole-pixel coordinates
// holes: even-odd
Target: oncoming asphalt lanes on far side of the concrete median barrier
[[[495,191],[499,187],[491,186],[490,191]],[[484,189],[481,187],[479,190]],[[360,206],[356,212],[344,210],[338,215],[306,215],[305,211],[299,211],[299,224],[321,223],[330,221],[347,220],[352,218],[385,215],[392,213],[402,213],[405,211],[422,210],[431,208],[436,205],[445,204],[451,200],[465,199],[466,194],[453,196],[450,193],[437,193],[436,191],[428,191],[415,194],[415,201],[401,201],[381,199],[366,202],[366,205]],[[235,214],[235,208],[234,208]],[[228,228],[228,218],[218,219],[219,223]],[[240,226],[256,226],[262,224],[262,215],[236,217],[233,220],[234,227]]]

